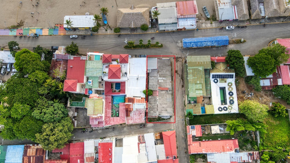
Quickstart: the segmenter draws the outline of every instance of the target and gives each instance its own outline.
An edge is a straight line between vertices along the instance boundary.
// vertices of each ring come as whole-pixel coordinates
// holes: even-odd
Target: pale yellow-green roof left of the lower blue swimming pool
[[[87,116],[97,116],[103,114],[103,99],[89,98],[86,100]]]

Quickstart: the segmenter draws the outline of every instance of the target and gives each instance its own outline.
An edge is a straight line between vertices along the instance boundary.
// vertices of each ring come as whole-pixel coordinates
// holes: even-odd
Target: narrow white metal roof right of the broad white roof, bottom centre
[[[148,155],[148,161],[157,160],[156,149],[155,149],[155,138],[153,133],[144,134],[145,143],[146,143],[146,151]]]

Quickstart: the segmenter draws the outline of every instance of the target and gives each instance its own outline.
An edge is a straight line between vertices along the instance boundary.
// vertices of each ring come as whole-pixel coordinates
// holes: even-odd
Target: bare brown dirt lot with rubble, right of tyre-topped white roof
[[[272,90],[262,90],[260,92],[257,92],[245,83],[244,78],[236,78],[236,88],[238,100],[240,101],[244,101],[247,99],[257,100],[261,104],[268,105],[269,107],[271,102],[280,102],[286,108],[290,108],[290,105],[287,105],[286,101],[275,98]],[[253,96],[251,95],[251,93],[253,93]]]

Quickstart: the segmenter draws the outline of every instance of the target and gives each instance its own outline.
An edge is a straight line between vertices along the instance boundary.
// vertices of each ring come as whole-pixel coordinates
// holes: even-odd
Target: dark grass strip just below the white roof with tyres
[[[193,119],[189,120],[189,125],[219,124],[225,123],[227,120],[236,120],[238,118],[246,119],[246,116],[242,113],[197,115],[193,116]]]

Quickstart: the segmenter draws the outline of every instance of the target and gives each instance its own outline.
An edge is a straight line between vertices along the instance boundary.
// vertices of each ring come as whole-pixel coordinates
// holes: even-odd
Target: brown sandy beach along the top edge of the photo
[[[6,26],[17,25],[17,23],[20,23],[24,28],[54,27],[55,24],[63,24],[66,15],[84,15],[86,12],[89,12],[90,15],[100,14],[100,8],[102,7],[108,8],[108,23],[111,28],[115,28],[117,26],[118,8],[130,8],[132,5],[136,8],[151,8],[156,6],[156,3],[172,2],[172,0],[22,0],[22,3],[20,3],[20,0],[2,0],[1,2],[3,6],[0,10],[0,15],[2,15],[1,29],[6,28]],[[205,17],[202,10],[204,5],[211,15],[214,14],[213,1],[197,0],[196,2],[199,19]]]

